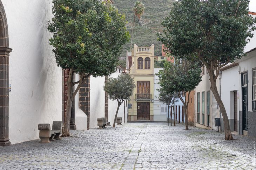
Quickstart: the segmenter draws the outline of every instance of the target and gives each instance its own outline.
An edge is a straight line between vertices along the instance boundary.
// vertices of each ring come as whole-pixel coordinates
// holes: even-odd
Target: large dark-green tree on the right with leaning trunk
[[[248,6],[249,0],[180,0],[162,22],[164,36],[158,35],[171,55],[206,65],[223,116],[225,140],[233,136],[216,80],[223,66],[245,55],[256,23],[248,15]]]

